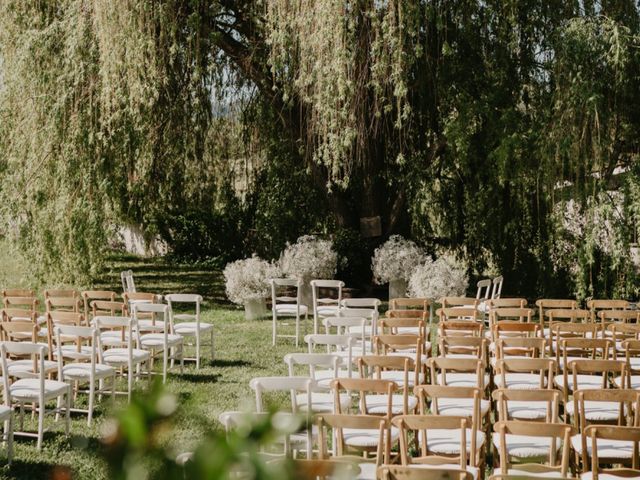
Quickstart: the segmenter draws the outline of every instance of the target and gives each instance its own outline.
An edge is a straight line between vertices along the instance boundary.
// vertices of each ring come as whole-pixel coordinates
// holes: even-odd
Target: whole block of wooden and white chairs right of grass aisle
[[[273,341],[288,304],[296,335],[312,332],[307,353],[285,355],[288,376],[249,385],[257,415],[284,393],[286,414],[308,418],[268,452],[295,459],[298,478],[640,478],[635,305],[529,305],[501,297],[499,278],[435,310],[396,298],[382,313],[377,299],[342,298],[342,282],[312,285],[313,328],[299,294],[274,293],[272,307]]]

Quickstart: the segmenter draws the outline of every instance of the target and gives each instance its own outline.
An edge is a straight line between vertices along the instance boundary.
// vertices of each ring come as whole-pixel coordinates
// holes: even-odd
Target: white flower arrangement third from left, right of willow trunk
[[[376,248],[371,259],[374,281],[378,285],[394,280],[408,281],[413,270],[427,258],[424,251],[411,240],[392,235]]]

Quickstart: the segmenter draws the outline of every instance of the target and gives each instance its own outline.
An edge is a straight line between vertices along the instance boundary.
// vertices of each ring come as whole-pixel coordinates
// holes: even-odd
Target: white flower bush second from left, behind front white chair
[[[313,235],[304,235],[293,245],[287,243],[280,255],[282,273],[302,281],[333,278],[337,267],[338,254],[333,249],[333,242]]]

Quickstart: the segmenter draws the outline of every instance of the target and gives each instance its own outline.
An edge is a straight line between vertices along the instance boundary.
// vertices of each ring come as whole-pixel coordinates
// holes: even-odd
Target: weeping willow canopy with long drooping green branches
[[[401,233],[635,296],[639,47],[631,0],[0,0],[3,231],[48,281],[133,222],[221,260],[332,235],[354,282]]]

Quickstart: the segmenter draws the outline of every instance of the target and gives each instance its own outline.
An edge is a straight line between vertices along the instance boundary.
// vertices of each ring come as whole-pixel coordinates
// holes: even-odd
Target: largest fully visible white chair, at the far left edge
[[[49,413],[56,415],[56,420],[60,413],[65,414],[65,434],[69,435],[69,412],[71,407],[71,385],[57,380],[46,379],[44,369],[44,357],[47,354],[47,347],[37,343],[27,342],[3,342],[0,344],[0,355],[2,356],[2,379],[4,382],[5,405],[12,408],[14,405],[20,408],[20,430],[14,432],[15,435],[35,437],[38,439],[37,448],[42,448],[44,436],[44,416]],[[10,355],[26,356],[30,355],[34,362],[34,371],[26,377],[26,372],[22,372],[22,378],[11,381],[9,371]],[[50,400],[56,400],[56,407],[47,410],[46,404]],[[62,406],[64,402],[64,407]],[[38,412],[37,433],[24,432],[24,406],[33,405]]]

